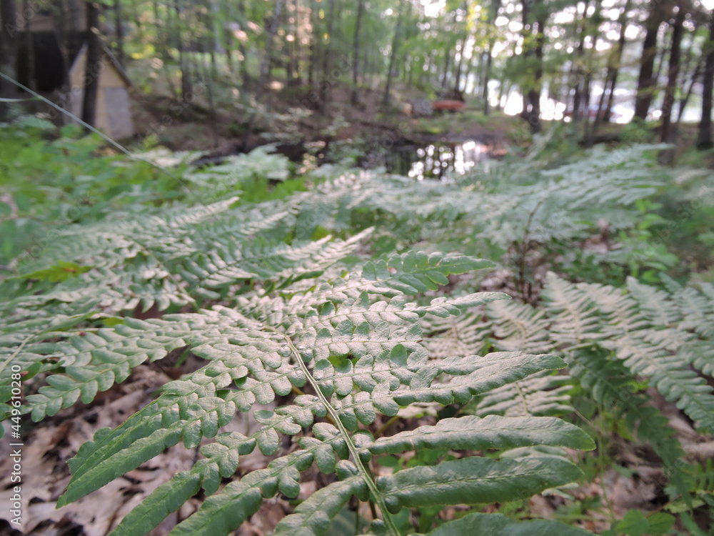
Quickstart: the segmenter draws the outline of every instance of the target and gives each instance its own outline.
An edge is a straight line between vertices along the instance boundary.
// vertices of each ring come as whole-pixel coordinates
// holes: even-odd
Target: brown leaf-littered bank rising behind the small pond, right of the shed
[[[200,150],[216,155],[243,152],[251,111],[237,101],[226,106],[231,92],[225,93],[216,99],[222,104],[215,116],[203,95],[191,106],[183,106],[168,94],[134,94],[134,124],[139,139],[154,134],[156,142],[177,151]],[[335,84],[327,109],[312,111],[306,106],[310,98],[306,89],[272,92],[267,96],[270,113],[258,114],[248,149],[271,142],[292,147],[326,141],[359,144],[375,139],[397,145],[474,140],[485,145],[492,157],[500,157],[507,147],[522,145],[529,137],[521,118],[500,111],[485,116],[468,99],[463,111],[416,117],[406,113],[406,104],[426,95],[398,87],[386,109],[381,106],[382,96],[377,89],[363,89],[359,104],[353,105],[349,89]]]

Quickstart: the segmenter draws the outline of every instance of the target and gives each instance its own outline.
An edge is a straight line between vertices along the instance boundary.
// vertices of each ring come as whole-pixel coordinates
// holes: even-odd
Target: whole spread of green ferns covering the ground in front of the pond
[[[0,282],[0,355],[27,373],[24,411],[39,421],[89,404],[141,364],[176,352],[204,359],[119,427],[96,432],[70,462],[60,504],[178,442],[198,447],[193,467],[158,487],[117,534],[149,532],[201,490],[203,505],[174,533],[227,534],[266,498],[296,497],[301,475],[314,470],[331,483],[276,534],[328,534],[353,497],[381,512],[368,529],[375,535],[583,534],[479,513],[433,528],[442,505],[523,502],[578,480],[566,449],[594,445],[562,418],[583,397],[653,447],[670,495],[681,495],[673,513],[703,504],[706,471],[693,475],[681,462],[645,389],[658,389],[699,430],[714,430],[704,379],[714,371],[711,284],[657,274],[653,286],[627,277],[631,259],[603,254],[598,262],[623,267],[621,287],[542,270],[537,307],[476,292],[494,267],[481,257],[518,267],[538,249],[588,240],[600,217],[623,243],[649,242],[664,225],[658,218],[669,220],[643,223],[643,214],[670,205],[652,201],[668,177],[655,177],[648,148],[596,152],[553,169],[535,157],[504,162],[456,184],[334,177],[328,167],[290,179],[284,159],[263,151],[185,174],[187,155],[169,155],[181,180],[152,171],[142,182],[144,162],[94,156],[92,139],[60,137],[26,150],[52,169],[69,159],[71,169],[99,177],[43,177],[50,186],[28,189],[33,202],[9,187],[4,224],[21,229],[31,217],[36,234],[45,233],[39,247],[11,259],[11,277]],[[135,183],[118,184],[102,166],[132,169]],[[32,169],[25,162],[9,173]],[[181,186],[165,196],[171,184]],[[98,197],[50,231],[47,207],[90,190]],[[555,372],[566,363],[568,374]],[[0,402],[10,398],[12,373],[0,367]],[[9,405],[1,410],[11,415]],[[250,435],[223,430],[236,412],[250,412]],[[393,422],[423,416],[428,425],[390,432]],[[241,457],[256,448],[273,460],[236,480]],[[373,475],[373,466],[391,471]],[[421,514],[418,527],[409,509]],[[612,530],[655,533],[670,519],[647,518],[643,529],[635,517]]]

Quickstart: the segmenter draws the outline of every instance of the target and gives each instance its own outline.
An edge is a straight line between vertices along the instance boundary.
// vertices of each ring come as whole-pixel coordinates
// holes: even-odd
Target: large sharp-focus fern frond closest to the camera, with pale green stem
[[[421,305],[412,299],[448,283],[450,274],[489,266],[461,255],[411,252],[388,262],[333,268],[319,278],[256,288],[238,297],[232,308],[216,306],[146,321],[126,318],[96,332],[60,335],[64,342],[53,344],[76,349],[76,361],[65,364],[64,374],[49,376],[49,386],[29,397],[34,420],[79,396],[89,402],[97,390],[121,379],[110,372],[114,364],[129,369],[181,347],[207,363],[166,384],[150,405],[115,430],[99,430],[81,447],[70,462],[71,482],[59,505],[99,489],[166,447],[183,441],[193,448],[205,443],[204,438],[213,441],[201,447],[202,457],[193,468],[151,493],[114,534],[149,532],[201,488],[208,498],[172,534],[228,534],[266,497],[278,492],[296,497],[301,473],[313,465],[336,477],[285,517],[276,535],[326,534],[331,518],[353,496],[371,500],[381,513],[381,520],[371,525],[372,534],[396,536],[392,515],[403,507],[503,502],[576,480],[580,471],[560,456],[468,455],[533,445],[593,448],[585,432],[555,417],[463,415],[388,437],[371,432],[377,415],[393,417],[413,404],[464,404],[477,394],[564,366],[555,355],[523,352],[430,358],[421,343],[420,319],[451,317],[507,296],[438,297]],[[46,350],[36,344],[47,343],[29,343],[25,359]],[[255,411],[261,425],[255,433],[221,433],[236,411],[268,405],[278,395],[292,398],[273,410]],[[284,436],[292,437],[296,449],[282,449]],[[256,447],[278,457],[221,487],[222,478],[236,474],[241,456]],[[465,455],[393,475],[375,477],[371,472],[373,456],[435,447]],[[450,525],[431,533],[514,530],[513,522],[500,515],[472,514]],[[519,527],[528,534],[586,534],[545,520]]]

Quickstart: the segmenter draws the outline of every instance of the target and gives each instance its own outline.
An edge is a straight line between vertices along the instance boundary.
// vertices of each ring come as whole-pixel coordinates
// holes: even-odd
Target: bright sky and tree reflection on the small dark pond
[[[388,172],[417,180],[448,180],[451,174],[466,174],[476,164],[488,158],[488,148],[468,142],[436,142],[426,146],[398,147],[385,155]]]

